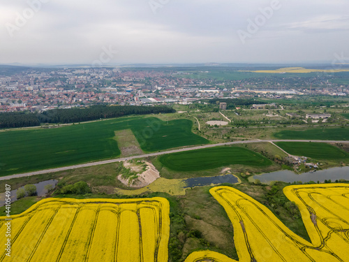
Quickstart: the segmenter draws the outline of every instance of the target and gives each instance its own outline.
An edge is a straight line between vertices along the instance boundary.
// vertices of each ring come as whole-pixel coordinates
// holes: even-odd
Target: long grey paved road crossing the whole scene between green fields
[[[0,177],[0,180],[10,180],[12,178],[18,178],[18,177],[29,177],[31,175],[41,175],[41,174],[46,174],[46,173],[54,173],[54,172],[58,172],[58,171],[70,170],[70,169],[75,169],[75,168],[86,168],[89,166],[104,165],[105,163],[115,163],[115,162],[119,162],[119,161],[130,160],[130,159],[140,159],[143,157],[155,157],[155,156],[159,156],[161,154],[171,154],[171,153],[177,153],[177,152],[199,150],[202,148],[218,147],[221,145],[236,145],[236,144],[247,144],[247,143],[260,143],[260,142],[266,142],[266,143],[276,143],[276,142],[349,143],[349,141],[334,141],[334,140],[245,140],[245,141],[235,141],[235,142],[219,143],[219,144],[212,144],[212,145],[200,145],[200,146],[196,146],[196,147],[186,147],[186,148],[182,148],[179,150],[168,150],[168,151],[163,151],[163,152],[141,154],[141,155],[133,156],[133,157],[109,159],[109,160],[105,160],[105,161],[97,161],[97,162],[92,162],[92,163],[82,163],[82,164],[75,165],[75,166],[64,166],[63,168],[52,168],[52,169],[40,170],[40,171],[29,172],[29,173],[24,173],[24,174],[8,175],[6,177]]]

